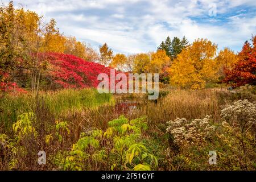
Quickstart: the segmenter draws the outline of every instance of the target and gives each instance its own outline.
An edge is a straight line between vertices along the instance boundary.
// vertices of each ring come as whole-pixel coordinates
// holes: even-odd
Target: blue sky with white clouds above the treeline
[[[4,1],[8,2],[8,1]],[[49,20],[65,35],[115,53],[155,51],[167,35],[190,42],[208,38],[240,51],[256,34],[255,0],[14,0]]]

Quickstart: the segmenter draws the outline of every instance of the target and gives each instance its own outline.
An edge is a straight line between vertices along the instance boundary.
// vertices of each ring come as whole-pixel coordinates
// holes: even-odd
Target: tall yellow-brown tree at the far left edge
[[[21,59],[28,57],[27,22],[25,12],[14,9],[13,2],[0,7],[0,82],[16,82]],[[31,27],[35,26],[32,22]]]

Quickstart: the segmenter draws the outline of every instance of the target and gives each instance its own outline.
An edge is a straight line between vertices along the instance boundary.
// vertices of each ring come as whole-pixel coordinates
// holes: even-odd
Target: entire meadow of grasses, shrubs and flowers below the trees
[[[255,127],[250,122],[255,117],[255,88],[235,93],[161,89],[160,96],[150,101],[146,94],[82,89],[6,97],[1,100],[0,140],[5,150],[0,167],[255,170]],[[236,107],[246,115],[226,117],[230,112],[236,116]],[[43,166],[37,163],[40,148],[47,154]],[[216,151],[217,165],[209,165],[209,151]]]

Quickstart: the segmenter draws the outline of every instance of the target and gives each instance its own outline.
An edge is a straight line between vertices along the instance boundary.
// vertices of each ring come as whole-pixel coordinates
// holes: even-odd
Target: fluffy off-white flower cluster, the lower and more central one
[[[167,125],[167,133],[172,134],[174,143],[180,146],[199,144],[215,131],[215,127],[210,123],[209,115],[203,119],[194,119],[191,122],[185,118],[176,118],[175,121],[167,122]]]

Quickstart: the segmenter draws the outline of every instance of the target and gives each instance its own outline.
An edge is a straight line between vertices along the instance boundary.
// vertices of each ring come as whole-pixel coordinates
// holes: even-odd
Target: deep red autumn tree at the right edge
[[[256,36],[251,41],[252,45],[248,41],[243,44],[234,67],[225,70],[224,82],[235,87],[245,84],[256,85]]]

